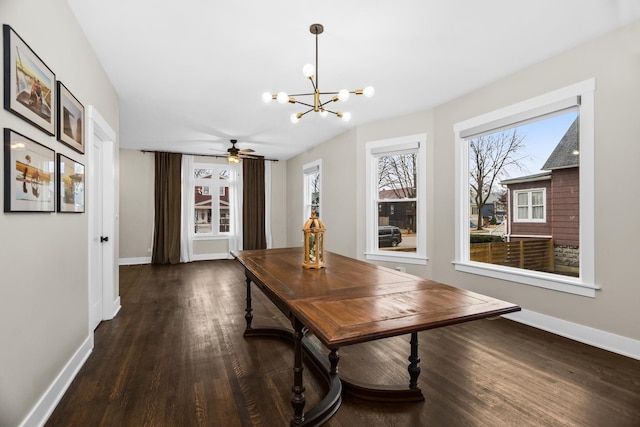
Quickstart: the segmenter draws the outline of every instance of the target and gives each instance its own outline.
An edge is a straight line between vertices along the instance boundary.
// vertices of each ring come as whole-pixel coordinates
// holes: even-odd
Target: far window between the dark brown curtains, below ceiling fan
[[[231,232],[232,176],[228,165],[194,165],[193,233],[195,236],[217,236]],[[214,197],[214,195],[217,196]]]

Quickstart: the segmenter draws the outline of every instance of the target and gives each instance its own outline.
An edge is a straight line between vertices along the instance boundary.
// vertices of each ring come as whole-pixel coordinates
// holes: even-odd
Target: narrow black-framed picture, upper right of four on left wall
[[[58,141],[84,153],[84,107],[58,82]]]

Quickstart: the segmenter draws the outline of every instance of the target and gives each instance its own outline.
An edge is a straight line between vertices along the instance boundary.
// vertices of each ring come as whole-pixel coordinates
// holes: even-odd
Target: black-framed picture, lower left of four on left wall
[[[4,211],[55,210],[55,152],[11,129],[4,130]]]

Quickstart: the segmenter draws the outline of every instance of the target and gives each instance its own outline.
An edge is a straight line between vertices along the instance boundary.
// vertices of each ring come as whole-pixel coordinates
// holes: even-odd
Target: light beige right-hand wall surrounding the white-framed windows
[[[322,159],[325,177],[334,171],[339,174],[336,179],[323,181],[322,187],[327,249],[363,258],[366,237],[362,224],[365,218],[364,144],[426,133],[429,261],[426,267],[407,266],[407,271],[517,303],[545,319],[564,322],[565,326],[576,326],[589,333],[595,331],[597,339],[604,337],[629,344],[628,348],[632,349],[629,353],[640,358],[640,287],[635,271],[640,197],[634,193],[640,182],[637,166],[640,159],[639,76],[640,22],[637,22],[433,110],[361,126],[289,160],[288,215],[297,218],[302,209],[301,166]],[[597,87],[595,274],[602,290],[595,298],[588,298],[456,272],[452,264],[455,254],[453,125],[594,77]],[[345,152],[348,160],[340,159],[340,152]],[[344,173],[353,169],[354,162],[355,174]],[[331,202],[325,205],[326,201]],[[338,218],[347,227],[334,225]],[[337,242],[339,239],[347,241]],[[288,244],[299,246],[299,240],[298,230],[292,225]]]

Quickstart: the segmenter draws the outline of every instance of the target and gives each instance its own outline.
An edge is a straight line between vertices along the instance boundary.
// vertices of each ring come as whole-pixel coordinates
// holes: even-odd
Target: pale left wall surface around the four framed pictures
[[[93,105],[117,133],[118,96],[66,1],[2,0],[0,17],[85,109]],[[4,109],[0,123],[88,166],[88,156]],[[4,188],[2,180],[0,177],[0,188]],[[0,214],[1,426],[25,420],[92,336],[87,285],[89,215]],[[29,418],[30,422],[35,418]]]

